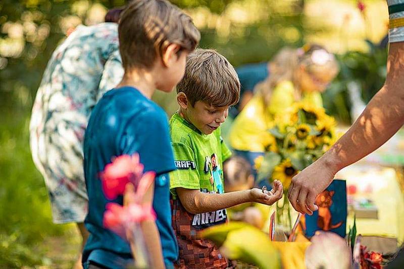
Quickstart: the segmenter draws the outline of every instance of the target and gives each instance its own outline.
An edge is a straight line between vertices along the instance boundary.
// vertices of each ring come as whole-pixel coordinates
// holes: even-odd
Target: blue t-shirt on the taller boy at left
[[[83,250],[83,263],[94,261],[111,268],[133,262],[129,244],[103,227],[107,203],[122,205],[122,196],[108,200],[98,177],[122,154],[139,153],[145,171],[157,173],[153,207],[166,266],[172,267],[178,248],[171,226],[168,172],[175,170],[169,126],[164,110],[137,89],[123,87],[107,92],[92,110],[84,138],[84,175],[88,192],[88,215],[84,221],[90,236]],[[133,263],[132,263],[133,264]]]

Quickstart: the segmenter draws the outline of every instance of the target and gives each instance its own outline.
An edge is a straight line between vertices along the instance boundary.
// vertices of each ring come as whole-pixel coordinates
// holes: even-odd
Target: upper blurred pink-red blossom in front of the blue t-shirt
[[[122,195],[126,183],[132,182],[135,188],[143,173],[143,165],[139,162],[139,155],[121,155],[112,163],[107,164],[100,173],[105,196],[112,200]]]

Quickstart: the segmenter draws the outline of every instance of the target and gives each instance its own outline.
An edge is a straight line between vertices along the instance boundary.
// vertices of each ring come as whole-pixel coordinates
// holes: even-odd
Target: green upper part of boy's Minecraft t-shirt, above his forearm
[[[201,133],[177,113],[171,117],[171,144],[177,170],[170,174],[170,190],[200,189],[203,192],[223,193],[223,162],[231,152],[223,143],[220,128],[211,134]]]

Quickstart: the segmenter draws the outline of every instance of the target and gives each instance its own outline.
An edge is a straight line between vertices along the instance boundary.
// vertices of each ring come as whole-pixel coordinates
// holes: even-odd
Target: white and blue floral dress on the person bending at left
[[[84,131],[97,100],[122,76],[115,23],[80,25],[46,66],[32,109],[30,146],[55,223],[84,221]]]

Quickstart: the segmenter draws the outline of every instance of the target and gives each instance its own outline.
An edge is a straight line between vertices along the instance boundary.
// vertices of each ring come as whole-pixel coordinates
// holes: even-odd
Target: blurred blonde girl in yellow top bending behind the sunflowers
[[[252,167],[269,145],[268,129],[274,119],[298,101],[323,107],[321,93],[339,72],[334,55],[317,44],[283,48],[270,68],[270,76],[257,84],[254,97],[235,118],[229,135],[235,154]]]

